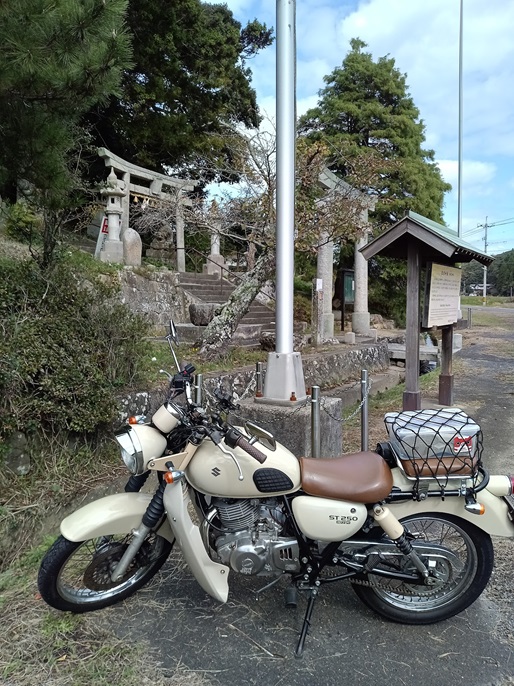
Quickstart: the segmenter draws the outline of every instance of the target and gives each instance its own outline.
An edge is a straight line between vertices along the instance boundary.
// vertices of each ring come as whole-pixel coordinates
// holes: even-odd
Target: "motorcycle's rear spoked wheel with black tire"
[[[435,574],[433,586],[408,584],[369,574],[352,584],[355,593],[372,610],[395,622],[432,624],[469,607],[482,593],[493,571],[491,538],[466,520],[446,514],[412,515],[401,520],[416,541],[433,544],[434,552],[417,552]],[[398,571],[415,573],[406,558],[396,558]],[[375,566],[391,569],[391,561]]]

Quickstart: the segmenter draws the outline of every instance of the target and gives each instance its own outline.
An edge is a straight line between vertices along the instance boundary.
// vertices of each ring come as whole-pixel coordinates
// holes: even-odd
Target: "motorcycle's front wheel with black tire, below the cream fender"
[[[172,544],[150,533],[123,577],[111,574],[130,542],[130,534],[100,536],[75,543],[59,536],[39,569],[43,600],[57,610],[89,612],[128,598],[159,571]]]

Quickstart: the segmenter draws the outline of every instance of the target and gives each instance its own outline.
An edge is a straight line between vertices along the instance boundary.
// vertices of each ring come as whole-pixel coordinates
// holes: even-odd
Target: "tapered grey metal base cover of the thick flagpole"
[[[300,353],[269,353],[260,403],[298,406],[307,398]]]

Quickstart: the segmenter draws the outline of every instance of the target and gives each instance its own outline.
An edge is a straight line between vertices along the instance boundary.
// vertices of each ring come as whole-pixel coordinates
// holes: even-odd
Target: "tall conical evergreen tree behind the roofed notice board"
[[[444,193],[451,187],[441,177],[434,151],[423,148],[425,126],[406,76],[391,57],[374,61],[363,41],[353,39],[350,45],[341,67],[325,77],[318,106],[302,117],[300,132],[329,144],[375,148],[385,160],[396,161],[373,189],[380,223],[397,221],[409,209],[441,222]],[[334,170],[346,172],[337,159]]]

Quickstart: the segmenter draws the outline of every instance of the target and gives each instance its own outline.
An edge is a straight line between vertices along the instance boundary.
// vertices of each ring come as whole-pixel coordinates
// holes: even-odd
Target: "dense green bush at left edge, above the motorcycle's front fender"
[[[0,260],[0,436],[113,420],[116,391],[136,379],[147,346],[146,323],[113,295],[64,261],[42,272]]]

